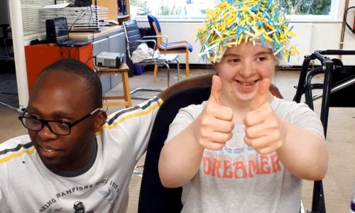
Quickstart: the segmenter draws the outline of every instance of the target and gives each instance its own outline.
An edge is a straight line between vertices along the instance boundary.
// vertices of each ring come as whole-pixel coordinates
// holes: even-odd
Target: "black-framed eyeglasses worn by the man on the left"
[[[35,117],[31,116],[25,116],[27,109],[18,116],[18,119],[21,121],[21,123],[23,124],[23,126],[25,126],[26,129],[30,129],[33,131],[41,131],[44,126],[48,126],[48,129],[52,133],[55,133],[58,136],[67,136],[70,134],[72,126],[79,124],[81,121],[84,121],[84,119],[87,119],[89,116],[92,116],[95,112],[99,110],[103,111],[104,109],[97,108],[91,113],[87,114],[86,116],[83,116],[81,119],[72,123],[67,121],[48,121],[43,119],[36,119]]]

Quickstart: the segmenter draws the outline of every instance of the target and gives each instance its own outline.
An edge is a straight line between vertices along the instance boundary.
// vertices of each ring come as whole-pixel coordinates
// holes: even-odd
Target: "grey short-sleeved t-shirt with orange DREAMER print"
[[[180,109],[167,141],[201,113],[204,103]],[[324,138],[317,114],[305,104],[273,98],[280,118]],[[183,186],[182,212],[300,212],[302,180],[285,170],[277,154],[260,155],[244,143],[244,125],[220,151],[204,150],[200,170]]]

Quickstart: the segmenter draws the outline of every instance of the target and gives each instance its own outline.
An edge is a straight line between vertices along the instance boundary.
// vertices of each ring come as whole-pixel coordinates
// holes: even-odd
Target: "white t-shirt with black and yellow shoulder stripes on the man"
[[[0,212],[126,212],[133,168],[146,151],[158,97],[111,114],[92,160],[74,172],[43,165],[28,135],[0,144]],[[83,209],[83,208],[82,208]]]

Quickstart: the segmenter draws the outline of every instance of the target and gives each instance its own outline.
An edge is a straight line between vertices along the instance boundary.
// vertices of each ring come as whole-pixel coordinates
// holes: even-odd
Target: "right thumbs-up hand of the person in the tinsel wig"
[[[267,78],[259,82],[258,93],[251,103],[251,111],[243,120],[244,141],[261,154],[272,153],[283,145],[280,121],[268,103],[270,84],[271,81]]]

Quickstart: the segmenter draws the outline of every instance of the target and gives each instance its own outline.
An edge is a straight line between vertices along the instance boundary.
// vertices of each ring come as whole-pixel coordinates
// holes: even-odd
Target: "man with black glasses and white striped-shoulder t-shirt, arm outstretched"
[[[110,116],[82,62],[46,67],[18,117],[28,135],[0,144],[0,212],[126,212],[163,92]]]

